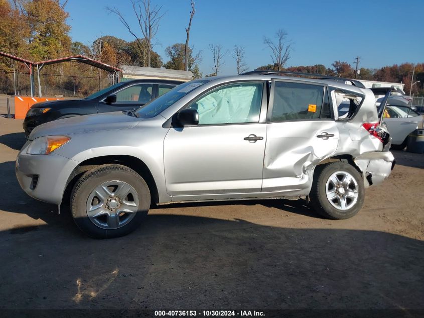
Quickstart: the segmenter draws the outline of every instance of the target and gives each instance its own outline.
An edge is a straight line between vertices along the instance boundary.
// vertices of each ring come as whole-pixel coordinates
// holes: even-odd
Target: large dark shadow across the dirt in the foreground
[[[77,232],[0,232],[0,308],[424,309],[424,243],[399,235],[182,215]]]

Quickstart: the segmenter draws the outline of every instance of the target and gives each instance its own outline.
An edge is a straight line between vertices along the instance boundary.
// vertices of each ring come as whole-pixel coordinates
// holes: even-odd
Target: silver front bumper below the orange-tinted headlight
[[[16,177],[21,188],[31,197],[40,201],[60,204],[68,177],[78,162],[56,153],[30,155],[28,141],[16,159]]]

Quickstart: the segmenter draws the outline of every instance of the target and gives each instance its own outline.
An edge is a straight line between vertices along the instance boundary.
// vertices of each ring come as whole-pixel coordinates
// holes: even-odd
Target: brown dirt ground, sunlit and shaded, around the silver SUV
[[[93,240],[15,177],[22,121],[0,118],[0,308],[424,309],[424,155],[345,221],[303,200],[173,204]]]

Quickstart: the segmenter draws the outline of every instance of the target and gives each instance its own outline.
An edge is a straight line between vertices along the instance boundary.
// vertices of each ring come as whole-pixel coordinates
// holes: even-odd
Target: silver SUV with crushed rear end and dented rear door
[[[383,111],[356,81],[280,75],[194,80],[136,111],[41,125],[18,155],[19,183],[70,200],[95,238],[133,231],[151,203],[303,197],[325,218],[354,216],[394,165]]]

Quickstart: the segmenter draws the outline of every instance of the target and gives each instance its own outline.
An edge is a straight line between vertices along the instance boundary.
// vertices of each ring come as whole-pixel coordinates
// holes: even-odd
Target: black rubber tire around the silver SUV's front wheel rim
[[[118,226],[121,218],[120,215],[122,215],[123,218],[127,216],[126,219],[129,221],[117,228],[101,228],[101,225],[96,225],[94,221],[92,221],[97,219],[90,219],[88,217],[87,204],[92,204],[88,202],[88,199],[90,195],[92,195],[94,189],[103,185],[105,182],[113,183],[116,182],[116,180],[122,184],[129,185],[129,187],[135,191],[134,195],[137,197],[138,204],[133,202],[130,203],[134,204],[133,209],[136,210],[136,212],[130,214],[118,213],[119,209],[115,208],[115,216],[117,216]],[[117,192],[117,188],[113,191]],[[132,195],[132,192],[128,195]],[[125,198],[128,199],[128,196],[125,196]],[[132,200],[135,201],[135,199]],[[100,204],[101,208],[109,211],[110,207],[106,208],[106,206],[110,203],[107,203],[106,199],[99,200],[97,203],[101,203],[101,201],[106,202],[104,208],[103,205]],[[118,200],[118,202],[120,201]],[[123,202],[120,203],[121,205],[124,204]],[[143,222],[143,219],[148,214],[150,207],[150,191],[145,180],[132,169],[117,164],[106,164],[89,170],[81,176],[72,190],[70,204],[72,217],[82,232],[96,239],[110,239],[131,233]],[[107,220],[109,220],[109,216],[104,214],[103,217],[106,219],[105,222],[108,224]],[[106,227],[108,226],[107,224],[105,224]]]

